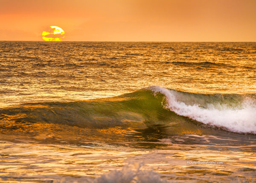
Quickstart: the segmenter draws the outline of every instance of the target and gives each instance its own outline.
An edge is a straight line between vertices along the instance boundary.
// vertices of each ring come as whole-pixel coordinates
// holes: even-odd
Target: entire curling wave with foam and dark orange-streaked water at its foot
[[[13,134],[41,140],[103,138],[118,142],[183,134],[225,136],[226,131],[254,134],[255,119],[246,116],[255,115],[254,98],[148,87],[104,99],[29,103],[0,110],[0,133],[4,138]],[[241,126],[238,120],[245,131],[237,130]]]

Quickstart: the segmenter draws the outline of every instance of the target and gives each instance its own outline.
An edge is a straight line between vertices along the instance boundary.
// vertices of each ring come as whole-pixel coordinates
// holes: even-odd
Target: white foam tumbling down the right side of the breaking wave
[[[244,101],[239,108],[227,108],[211,106],[210,108],[200,107],[199,104],[187,105],[177,100],[177,92],[157,86],[148,87],[155,93],[160,92],[166,96],[167,105],[176,114],[186,116],[204,124],[218,127],[225,127],[230,131],[239,133],[256,134],[256,106],[252,101]]]

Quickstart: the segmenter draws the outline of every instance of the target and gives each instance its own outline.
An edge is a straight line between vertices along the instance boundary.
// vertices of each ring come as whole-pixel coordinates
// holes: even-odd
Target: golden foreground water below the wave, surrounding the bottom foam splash
[[[34,182],[41,180],[88,180],[99,177],[112,170],[120,170],[127,163],[143,161],[140,170],[155,171],[169,180],[214,181],[220,177],[224,182],[235,180],[239,175],[244,180],[252,177],[256,170],[256,154],[231,151],[209,151],[203,145],[191,149],[189,145],[180,145],[172,151],[143,150],[115,147],[95,149],[68,147],[62,145],[38,145],[23,143],[0,144],[0,177],[27,179]],[[183,146],[183,147],[182,147]],[[184,150],[189,148],[189,150]],[[218,161],[221,165],[188,164],[187,161]],[[229,177],[226,177],[229,176]],[[8,178],[9,177],[9,178]],[[12,178],[11,178],[12,177]],[[16,177],[16,178],[15,178]],[[23,177],[23,178],[20,178]]]

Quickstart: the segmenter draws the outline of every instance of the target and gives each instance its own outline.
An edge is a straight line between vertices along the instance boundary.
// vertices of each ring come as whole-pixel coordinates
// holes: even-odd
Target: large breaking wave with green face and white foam
[[[35,128],[41,128],[36,124],[51,124],[55,127],[50,129],[59,125],[111,128],[108,133],[120,128],[159,130],[159,125],[166,125],[177,132],[191,128],[189,124],[193,128],[256,134],[255,98],[255,94],[198,94],[152,86],[111,98],[1,108],[0,131],[35,132]]]

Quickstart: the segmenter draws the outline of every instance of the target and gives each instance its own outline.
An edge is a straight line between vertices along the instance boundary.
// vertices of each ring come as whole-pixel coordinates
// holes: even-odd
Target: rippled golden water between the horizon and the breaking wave
[[[256,93],[256,43],[0,42],[0,104],[117,96],[159,85]]]

